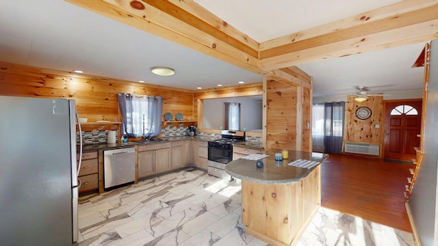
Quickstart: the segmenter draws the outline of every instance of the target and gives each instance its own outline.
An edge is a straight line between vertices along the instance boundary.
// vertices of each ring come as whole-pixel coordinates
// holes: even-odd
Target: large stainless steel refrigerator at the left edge
[[[75,100],[0,96],[0,244],[77,241]]]

